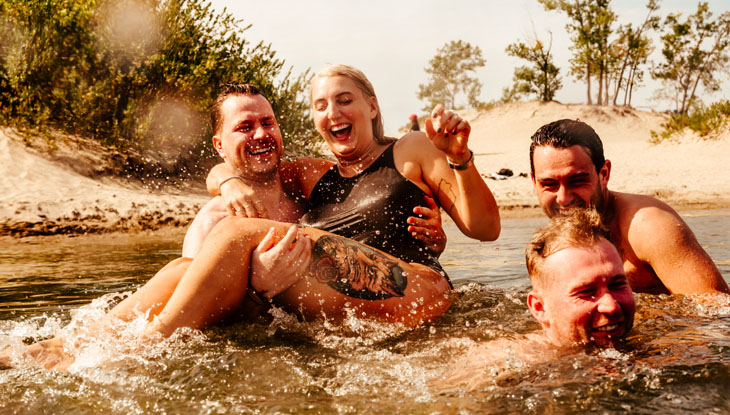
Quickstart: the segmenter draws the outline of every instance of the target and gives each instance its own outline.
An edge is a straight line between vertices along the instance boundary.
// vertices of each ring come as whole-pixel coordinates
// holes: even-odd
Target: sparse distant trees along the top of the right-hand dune
[[[720,90],[723,76],[730,70],[730,12],[713,16],[707,2],[697,3],[693,14],[668,13],[661,18],[660,0],[646,0],[643,20],[631,23],[618,16],[611,0],[536,1],[567,18],[565,29],[572,52],[569,74],[585,82],[589,105],[631,106],[633,91],[649,69],[649,75],[662,82],[657,99],[671,102],[675,113],[687,115],[697,110],[700,114],[704,111],[700,92]],[[650,62],[657,48],[655,35],[661,57]],[[514,69],[513,85],[504,88],[500,102],[554,99],[562,81],[552,46],[552,33],[548,30],[544,41],[536,29],[527,40],[507,46],[508,55],[528,65]],[[461,40],[446,43],[424,68],[428,81],[417,91],[424,111],[439,102],[456,106],[457,94],[464,95],[472,107],[493,105],[477,100],[482,84],[476,70],[485,62],[479,46]]]

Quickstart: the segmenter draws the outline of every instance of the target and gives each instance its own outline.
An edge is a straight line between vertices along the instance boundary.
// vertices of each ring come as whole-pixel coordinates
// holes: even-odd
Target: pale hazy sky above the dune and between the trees
[[[455,0],[308,0],[308,1],[225,1],[212,0],[253,26],[244,37],[256,44],[270,43],[276,56],[298,74],[311,68],[317,72],[330,63],[344,63],[362,70],[378,96],[386,134],[395,134],[408,115],[424,114],[417,98],[418,85],[427,81],[424,68],[437,49],[451,40],[479,46],[487,63],[477,72],[482,82],[482,101],[499,99],[502,89],[512,85],[515,67],[527,64],[508,56],[505,48],[517,40],[533,36],[547,41],[552,32],[552,53],[560,68],[563,88],[556,99],[563,103],[585,103],[585,82],[568,74],[571,51],[565,31],[567,18],[560,12],[546,12],[537,0],[479,1]],[[714,16],[730,10],[727,0],[710,0]],[[643,22],[645,1],[614,0],[620,23],[634,26]],[[697,2],[664,0],[660,15],[694,13]],[[658,37],[652,58],[660,59]],[[668,103],[651,100],[660,84],[651,80],[645,68],[644,86],[634,88],[632,104],[646,109],[670,108]],[[730,81],[725,75],[724,92],[705,97],[714,102],[730,97]],[[592,84],[595,94],[596,83]],[[594,97],[595,99],[595,97]]]

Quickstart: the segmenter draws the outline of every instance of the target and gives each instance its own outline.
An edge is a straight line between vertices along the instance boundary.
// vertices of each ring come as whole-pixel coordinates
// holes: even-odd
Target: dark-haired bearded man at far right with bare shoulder
[[[530,169],[548,217],[576,207],[599,212],[633,291],[730,294],[717,266],[674,209],[651,196],[608,190],[611,161],[586,123],[560,120],[540,127],[532,136]]]

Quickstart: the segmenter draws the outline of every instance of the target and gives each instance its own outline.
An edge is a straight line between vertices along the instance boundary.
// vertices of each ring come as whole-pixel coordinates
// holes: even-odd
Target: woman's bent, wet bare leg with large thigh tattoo
[[[269,228],[283,235],[289,226],[237,217],[221,221],[151,330],[168,336],[180,327],[201,329],[237,309],[249,285],[251,252]],[[277,305],[305,318],[336,318],[351,308],[406,324],[431,320],[448,309],[449,285],[438,272],[319,229],[305,231],[319,254],[307,276],[274,298]]]

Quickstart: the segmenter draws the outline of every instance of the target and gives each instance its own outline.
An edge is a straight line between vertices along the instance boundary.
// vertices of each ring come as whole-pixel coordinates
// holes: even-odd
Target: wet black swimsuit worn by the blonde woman
[[[309,196],[310,211],[300,223],[377,248],[405,262],[433,268],[448,280],[438,258],[408,232],[406,219],[423,206],[423,192],[393,162],[391,144],[370,167],[343,177],[332,166]]]

